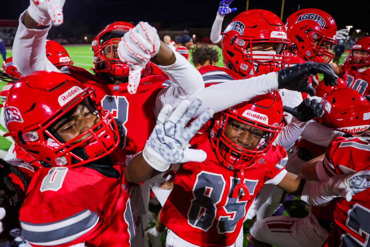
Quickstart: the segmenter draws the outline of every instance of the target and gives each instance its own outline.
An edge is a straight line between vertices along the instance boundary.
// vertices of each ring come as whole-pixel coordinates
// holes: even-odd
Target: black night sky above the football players
[[[339,1],[292,1],[286,0],[283,21],[300,9],[318,8],[331,14],[338,29],[352,25],[355,29],[370,32],[369,9],[370,1],[348,1],[350,4],[340,4]],[[18,19],[20,13],[29,5],[27,0],[1,0],[0,19]],[[64,29],[74,27],[73,33],[97,34],[107,24],[121,20],[137,24],[144,20],[149,23],[160,22],[161,29],[184,30],[195,27],[211,27],[216,16],[219,0],[66,0],[64,4]],[[280,16],[282,1],[249,1],[249,9],[266,9]],[[246,9],[246,0],[235,0],[231,7],[238,8],[225,17],[224,25],[238,13]],[[63,29],[58,27],[57,29]]]

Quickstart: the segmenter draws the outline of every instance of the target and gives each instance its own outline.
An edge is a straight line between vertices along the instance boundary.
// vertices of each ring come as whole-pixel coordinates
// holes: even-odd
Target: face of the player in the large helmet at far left
[[[92,113],[86,105],[78,104],[57,121],[54,129],[67,142],[84,133],[99,121],[99,117]],[[85,134],[72,144],[78,143],[89,136],[91,136],[91,133]]]

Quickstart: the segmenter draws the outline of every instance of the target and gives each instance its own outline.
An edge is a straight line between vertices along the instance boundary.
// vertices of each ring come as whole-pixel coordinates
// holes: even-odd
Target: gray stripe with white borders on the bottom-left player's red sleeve
[[[86,214],[87,217],[78,217],[81,214]],[[74,220],[76,218],[78,220]],[[97,213],[83,210],[73,216],[51,223],[33,224],[21,221],[22,236],[30,243],[42,246],[64,244],[82,236],[86,230],[95,226],[98,220]]]

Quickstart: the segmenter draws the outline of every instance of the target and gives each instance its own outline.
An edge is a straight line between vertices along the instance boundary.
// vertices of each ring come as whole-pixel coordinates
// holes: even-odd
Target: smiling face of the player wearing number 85
[[[230,141],[249,150],[256,148],[264,135],[265,131],[253,128],[234,119],[228,121],[225,130],[225,136]]]

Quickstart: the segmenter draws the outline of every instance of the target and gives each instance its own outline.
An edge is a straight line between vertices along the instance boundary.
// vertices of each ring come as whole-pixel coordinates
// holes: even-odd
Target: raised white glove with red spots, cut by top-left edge
[[[55,26],[63,23],[63,5],[65,0],[30,0],[28,14],[39,25],[48,26],[53,21]]]

